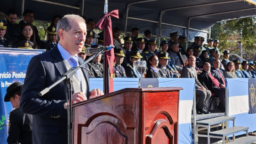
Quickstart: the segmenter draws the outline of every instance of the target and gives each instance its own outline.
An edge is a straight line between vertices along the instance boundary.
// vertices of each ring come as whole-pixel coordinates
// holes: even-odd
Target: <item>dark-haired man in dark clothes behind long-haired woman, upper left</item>
[[[19,22],[19,25],[20,25],[20,28],[22,28],[22,26],[25,24],[25,23],[30,23],[32,24],[34,22],[34,12],[31,11],[31,10],[25,10],[23,12],[23,19],[24,20],[21,20]],[[34,31],[35,31],[35,39],[36,39],[36,42],[37,42],[37,46],[41,46],[41,40],[40,40],[40,37],[38,35],[38,30],[37,30],[37,27],[36,26],[33,26],[34,28]],[[22,30],[21,30],[22,31]]]

